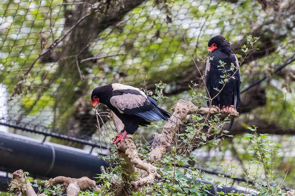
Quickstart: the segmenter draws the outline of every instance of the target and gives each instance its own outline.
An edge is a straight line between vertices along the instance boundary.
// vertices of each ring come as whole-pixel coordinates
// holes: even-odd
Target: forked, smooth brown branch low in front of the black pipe
[[[88,177],[69,178],[64,176],[58,176],[45,183],[45,187],[49,187],[54,184],[62,184],[67,189],[68,196],[76,196],[80,190],[95,189],[96,183],[94,180],[90,180]]]

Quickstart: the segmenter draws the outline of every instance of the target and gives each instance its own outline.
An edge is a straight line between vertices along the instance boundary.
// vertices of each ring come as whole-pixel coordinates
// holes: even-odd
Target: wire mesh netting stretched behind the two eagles
[[[99,142],[90,102],[94,87],[124,82],[154,91],[162,81],[169,99],[161,104],[169,109],[180,98],[192,100],[189,84],[199,84],[195,90],[205,93],[196,65],[204,70],[200,61],[210,37],[226,36],[233,51],[242,54],[245,37],[252,35],[260,37],[255,46],[260,50],[251,51],[241,65],[243,87],[267,79],[242,95],[233,127],[237,137],[227,139],[230,145],[214,147],[218,155],[204,147],[200,165],[216,168],[227,155],[247,160],[247,144],[233,147],[249,124],[264,133],[284,134],[275,137],[294,146],[287,136],[295,132],[294,63],[274,73],[294,57],[294,5],[293,0],[3,0],[1,122]],[[155,132],[141,130],[149,139]],[[291,149],[281,151],[278,177],[295,160]]]

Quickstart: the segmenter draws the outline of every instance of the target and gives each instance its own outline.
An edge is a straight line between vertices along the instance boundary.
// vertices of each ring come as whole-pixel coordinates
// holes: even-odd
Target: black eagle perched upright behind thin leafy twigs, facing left
[[[210,52],[210,57],[205,69],[206,87],[208,91],[207,97],[215,97],[212,100],[212,105],[222,108],[225,107],[227,112],[229,107],[234,107],[238,110],[241,102],[240,68],[237,56],[232,52],[230,42],[222,35],[214,36],[208,42],[208,51]],[[224,80],[224,78],[220,76],[223,76],[225,73],[220,70],[222,68],[220,67],[219,61],[226,63],[224,67],[227,74],[230,75],[225,85],[220,83],[221,80]],[[232,64],[234,65],[234,69],[231,70]],[[216,89],[222,89],[222,91],[219,93]],[[209,101],[207,101],[207,105],[209,107]],[[234,117],[232,117],[230,121],[228,131],[230,131],[233,121]]]

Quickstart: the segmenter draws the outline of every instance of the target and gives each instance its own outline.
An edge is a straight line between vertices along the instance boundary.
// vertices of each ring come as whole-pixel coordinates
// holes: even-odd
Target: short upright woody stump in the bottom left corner
[[[16,196],[37,196],[31,182],[26,180],[24,172],[22,170],[17,170],[13,172],[12,181],[9,187]]]

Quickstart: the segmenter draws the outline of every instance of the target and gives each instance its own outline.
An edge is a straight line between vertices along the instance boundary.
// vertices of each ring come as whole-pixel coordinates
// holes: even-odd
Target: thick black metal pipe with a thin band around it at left
[[[66,176],[94,179],[100,167],[109,164],[96,155],[73,147],[12,133],[0,132],[0,170],[14,172],[22,169],[39,178]]]

